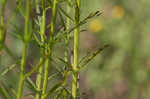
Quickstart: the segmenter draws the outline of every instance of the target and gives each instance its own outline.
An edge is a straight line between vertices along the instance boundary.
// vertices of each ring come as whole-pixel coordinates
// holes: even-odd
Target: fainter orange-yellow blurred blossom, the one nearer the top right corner
[[[112,9],[112,16],[118,19],[121,19],[125,14],[125,10],[121,6],[114,6]]]

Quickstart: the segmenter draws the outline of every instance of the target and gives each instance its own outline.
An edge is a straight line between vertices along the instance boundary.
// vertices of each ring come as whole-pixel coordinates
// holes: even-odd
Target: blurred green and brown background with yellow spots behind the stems
[[[87,31],[80,34],[80,56],[104,44],[110,45],[80,73],[82,98],[150,99],[150,0],[81,2],[81,19],[95,11],[101,11],[102,15],[82,26]],[[8,0],[6,21],[10,25],[6,44],[16,56],[21,57],[23,42],[15,33],[23,32],[24,20],[14,15],[14,8],[15,0]],[[61,49],[62,46],[63,44],[58,44],[56,48]],[[56,54],[63,56],[64,49],[56,50]],[[28,65],[35,64],[38,60],[39,49],[32,42]],[[15,62],[1,51],[0,72]],[[30,68],[31,66],[28,69]],[[1,81],[16,89],[17,70],[9,72]]]

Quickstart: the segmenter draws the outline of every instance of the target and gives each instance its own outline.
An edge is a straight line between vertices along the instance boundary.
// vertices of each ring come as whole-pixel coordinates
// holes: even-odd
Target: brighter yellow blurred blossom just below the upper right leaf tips
[[[89,23],[89,30],[92,32],[99,32],[103,29],[102,22],[98,19],[94,19]]]

